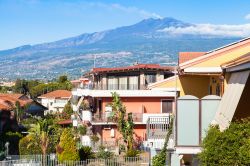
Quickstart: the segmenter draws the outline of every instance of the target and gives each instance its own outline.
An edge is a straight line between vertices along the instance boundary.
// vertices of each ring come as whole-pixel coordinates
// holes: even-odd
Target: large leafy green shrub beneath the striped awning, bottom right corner
[[[250,165],[250,119],[233,122],[220,132],[211,126],[198,155],[204,166]]]

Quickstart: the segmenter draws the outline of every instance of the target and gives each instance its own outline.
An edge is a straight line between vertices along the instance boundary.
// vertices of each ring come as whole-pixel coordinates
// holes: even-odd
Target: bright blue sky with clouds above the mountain
[[[0,50],[173,17],[173,33],[250,34],[249,0],[0,0]],[[226,31],[226,33],[225,33]]]

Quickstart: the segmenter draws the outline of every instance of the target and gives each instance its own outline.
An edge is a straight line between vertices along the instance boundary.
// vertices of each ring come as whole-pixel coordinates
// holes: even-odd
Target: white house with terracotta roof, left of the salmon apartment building
[[[55,90],[38,97],[38,102],[47,108],[45,113],[62,112],[71,98],[71,91]]]

